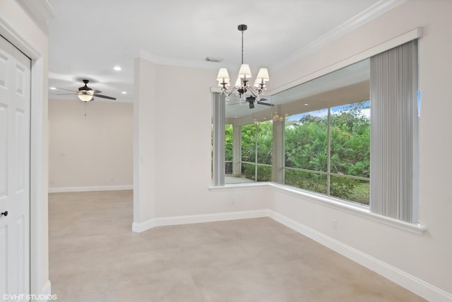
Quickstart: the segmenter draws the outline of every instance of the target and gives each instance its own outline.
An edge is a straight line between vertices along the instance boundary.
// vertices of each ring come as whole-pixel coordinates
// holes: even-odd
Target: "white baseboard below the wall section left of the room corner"
[[[268,210],[254,210],[254,211],[231,211],[214,214],[201,214],[201,215],[187,215],[187,216],[169,216],[169,217],[157,217],[149,219],[140,223],[134,222],[132,224],[132,231],[141,233],[147,231],[155,226],[175,226],[178,224],[190,224],[190,223],[203,223],[203,222],[215,222],[215,221],[227,221],[236,219],[250,219],[268,217]]]

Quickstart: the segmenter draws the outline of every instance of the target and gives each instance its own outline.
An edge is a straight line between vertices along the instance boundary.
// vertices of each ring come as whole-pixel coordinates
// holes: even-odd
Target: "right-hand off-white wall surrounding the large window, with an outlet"
[[[304,226],[386,262],[403,272],[452,293],[452,1],[407,1],[319,52],[273,73],[283,85],[422,27],[420,38],[420,223],[422,236],[369,221],[307,199],[275,192],[274,210]],[[338,230],[333,229],[338,219]],[[449,296],[450,297],[450,296]]]

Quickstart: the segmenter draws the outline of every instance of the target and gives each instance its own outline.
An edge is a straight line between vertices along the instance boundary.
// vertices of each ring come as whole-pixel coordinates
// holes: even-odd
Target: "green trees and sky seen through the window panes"
[[[370,176],[370,120],[363,112],[369,102],[331,108],[330,149],[328,110],[304,114],[285,123],[285,184],[328,194],[328,150],[330,150],[329,194],[369,204],[369,181],[347,178]],[[273,130],[271,122],[242,126],[242,175],[256,180],[256,163],[271,165]],[[257,148],[256,148],[257,141]],[[226,126],[226,160],[232,161],[232,126]],[[256,160],[257,149],[257,160]],[[319,173],[320,172],[320,173]],[[271,167],[257,165],[257,181],[271,181]]]

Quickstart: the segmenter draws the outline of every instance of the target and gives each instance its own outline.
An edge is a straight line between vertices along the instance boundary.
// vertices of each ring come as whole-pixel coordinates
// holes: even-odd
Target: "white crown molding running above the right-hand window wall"
[[[333,30],[329,31],[325,35],[322,35],[321,37],[317,38],[316,40],[310,42],[308,45],[302,47],[302,49],[298,50],[297,52],[292,54],[290,57],[287,57],[283,61],[271,66],[271,69],[274,71],[274,70],[281,69],[285,66],[288,66],[290,64],[293,64],[294,62],[298,61],[299,59],[306,57],[308,54],[316,52],[316,50],[321,49],[325,45],[328,45],[331,42],[338,40],[340,37],[343,37],[347,33],[352,32],[352,30],[359,28],[360,26],[371,21],[372,19],[374,19],[378,16],[381,16],[383,13],[390,11],[391,9],[395,8],[396,6],[399,6],[400,4],[403,4],[403,2],[405,2],[405,1],[406,0],[381,0],[381,1],[378,1],[373,6],[370,6],[366,10],[357,14],[357,16],[354,16],[353,18],[346,21],[345,23],[338,25],[337,27],[333,28]]]

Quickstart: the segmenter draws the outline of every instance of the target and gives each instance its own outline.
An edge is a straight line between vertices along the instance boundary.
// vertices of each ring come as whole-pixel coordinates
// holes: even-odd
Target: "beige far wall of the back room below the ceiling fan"
[[[76,96],[74,95],[74,98]],[[133,104],[49,100],[49,190],[133,184]]]

